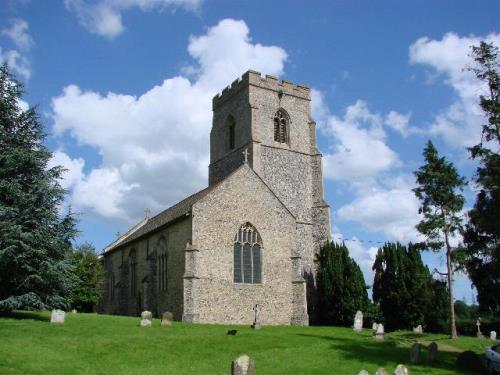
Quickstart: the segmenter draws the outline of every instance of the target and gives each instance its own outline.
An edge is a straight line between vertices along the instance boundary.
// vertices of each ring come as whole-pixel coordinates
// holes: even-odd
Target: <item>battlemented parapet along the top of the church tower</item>
[[[218,107],[226,100],[235,95],[242,88],[247,86],[257,86],[267,90],[282,92],[284,95],[296,96],[302,99],[311,100],[310,88],[305,85],[295,85],[290,81],[279,80],[270,75],[262,76],[260,72],[248,70],[241,78],[238,78],[227,86],[222,93],[217,94],[212,99],[212,108]]]

